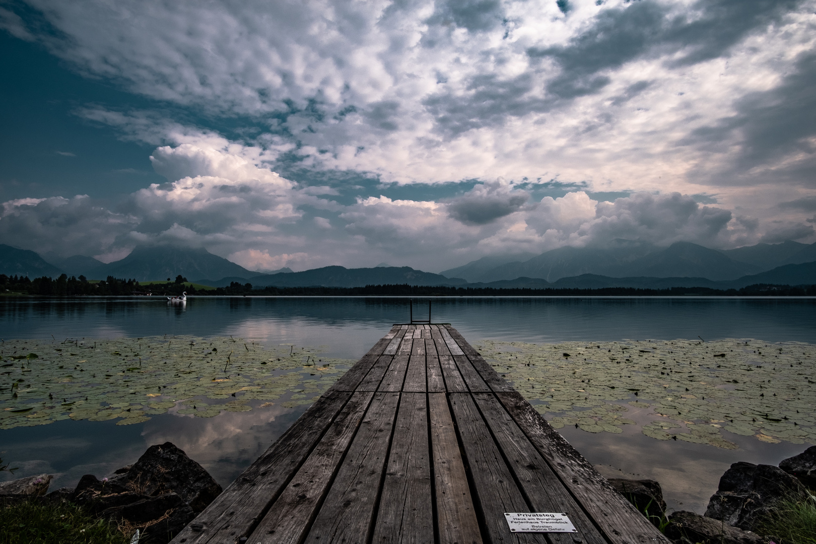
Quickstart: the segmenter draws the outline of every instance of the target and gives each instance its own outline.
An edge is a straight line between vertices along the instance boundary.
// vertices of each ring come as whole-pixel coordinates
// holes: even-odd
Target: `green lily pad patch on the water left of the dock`
[[[355,363],[324,351],[232,337],[5,340],[0,429],[69,418],[131,425],[167,411],[212,418],[249,411],[251,400],[310,404]]]

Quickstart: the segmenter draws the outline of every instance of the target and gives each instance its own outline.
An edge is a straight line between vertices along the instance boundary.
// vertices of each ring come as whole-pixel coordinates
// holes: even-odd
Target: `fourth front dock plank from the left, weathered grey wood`
[[[433,502],[424,393],[402,393],[373,544],[432,544]]]

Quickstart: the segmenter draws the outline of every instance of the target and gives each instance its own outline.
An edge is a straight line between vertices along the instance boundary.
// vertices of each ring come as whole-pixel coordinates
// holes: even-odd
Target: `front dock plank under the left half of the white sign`
[[[504,512],[529,512],[512,473],[490,436],[481,414],[468,393],[451,393],[456,427],[462,439],[465,462],[481,506],[482,522],[490,542],[547,542],[543,533],[511,533]]]

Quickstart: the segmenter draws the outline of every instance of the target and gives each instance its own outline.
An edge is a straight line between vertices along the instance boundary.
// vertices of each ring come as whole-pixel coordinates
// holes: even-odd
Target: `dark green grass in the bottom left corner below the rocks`
[[[0,506],[0,544],[128,544],[115,524],[68,502]]]

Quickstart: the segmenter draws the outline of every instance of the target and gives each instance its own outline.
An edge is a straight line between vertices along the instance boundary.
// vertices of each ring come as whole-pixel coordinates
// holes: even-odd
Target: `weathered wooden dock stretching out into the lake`
[[[577,533],[511,533],[562,512]],[[668,540],[450,325],[394,325],[172,544]]]

